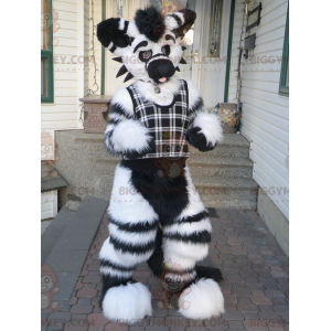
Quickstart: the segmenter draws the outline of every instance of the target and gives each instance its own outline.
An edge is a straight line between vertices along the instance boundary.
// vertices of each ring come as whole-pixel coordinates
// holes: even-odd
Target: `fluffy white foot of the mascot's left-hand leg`
[[[103,312],[114,322],[137,323],[137,320],[152,316],[151,293],[141,282],[113,287],[104,298]]]

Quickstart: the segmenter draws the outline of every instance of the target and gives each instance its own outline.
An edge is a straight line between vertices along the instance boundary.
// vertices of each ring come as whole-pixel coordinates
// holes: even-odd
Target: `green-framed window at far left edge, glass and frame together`
[[[54,102],[52,0],[41,1],[41,102]]]

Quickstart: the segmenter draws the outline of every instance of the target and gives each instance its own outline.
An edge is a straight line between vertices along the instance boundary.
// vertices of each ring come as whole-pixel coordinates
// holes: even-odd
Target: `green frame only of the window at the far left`
[[[52,13],[52,0],[46,0],[47,3],[47,13],[51,18],[51,24],[47,29],[49,33],[49,44],[46,45],[46,50],[41,50],[41,58],[47,60],[47,77],[46,77],[46,84],[47,84],[47,96],[43,97],[41,96],[41,103],[42,104],[52,104],[54,103],[54,72],[53,72],[53,13]]]

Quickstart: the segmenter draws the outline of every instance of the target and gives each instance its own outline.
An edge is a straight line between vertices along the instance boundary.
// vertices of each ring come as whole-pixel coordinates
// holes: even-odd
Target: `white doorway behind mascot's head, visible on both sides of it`
[[[124,3],[121,11],[117,3]],[[188,64],[180,65],[181,72],[178,75],[183,79],[192,79],[197,85],[206,108],[223,103],[231,0],[109,0],[107,17],[117,17],[119,13],[132,21],[136,10],[149,3],[167,3],[170,10],[189,8],[196,12],[193,29],[185,36],[188,49],[183,56]],[[110,52],[106,54],[106,94],[114,95],[119,87],[128,86],[131,82],[122,83],[122,77],[115,78],[120,64],[111,61]]]

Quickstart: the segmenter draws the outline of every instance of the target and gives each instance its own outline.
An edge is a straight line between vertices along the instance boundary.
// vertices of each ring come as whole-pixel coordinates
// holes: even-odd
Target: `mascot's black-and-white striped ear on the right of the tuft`
[[[171,30],[175,34],[175,39],[184,38],[196,19],[195,11],[191,9],[182,9],[175,11],[164,19],[167,29]]]

